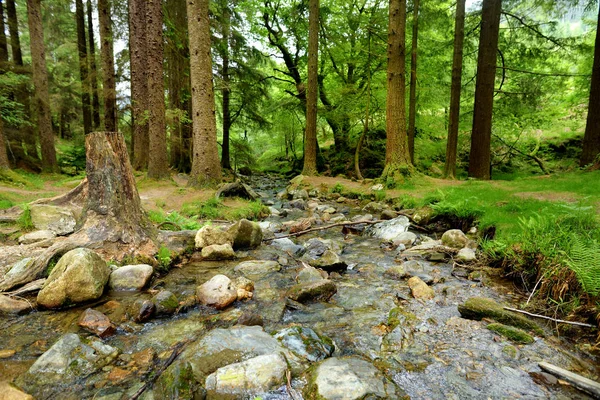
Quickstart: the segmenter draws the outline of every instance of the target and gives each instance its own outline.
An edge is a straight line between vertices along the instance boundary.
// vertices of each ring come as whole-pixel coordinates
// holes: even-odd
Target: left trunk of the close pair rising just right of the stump
[[[133,168],[148,168],[148,41],[146,0],[129,0],[129,54],[131,65],[131,106],[133,109]]]

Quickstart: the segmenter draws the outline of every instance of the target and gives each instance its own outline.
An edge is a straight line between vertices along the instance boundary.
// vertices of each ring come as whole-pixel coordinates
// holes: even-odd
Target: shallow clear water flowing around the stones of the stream
[[[275,194],[282,181],[258,177],[254,186],[273,207],[286,206]],[[321,201],[346,213],[347,218],[364,212],[354,204]],[[285,218],[271,216],[268,221],[279,226],[288,220],[306,217],[308,211],[290,209]],[[334,214],[335,216],[336,214]],[[312,238],[330,240],[348,264],[342,273],[330,277],[337,293],[327,302],[305,307],[286,307],[286,292],[296,284],[301,267],[299,258],[289,252],[264,244],[255,250],[238,252],[234,261],[192,260],[172,269],[153,281],[151,288],[140,293],[109,292],[93,306],[118,324],[115,336],[104,343],[116,347],[120,356],[110,365],[67,387],[41,390],[41,398],[120,399],[129,398],[151,376],[132,363],[136,354],[151,349],[155,363],[164,362],[176,343],[197,340],[216,327],[235,324],[242,314],[262,317],[264,329],[272,333],[290,325],[310,327],[333,340],[334,356],[354,355],[373,363],[411,399],[570,399],[587,398],[568,385],[536,383],[530,373],[540,371],[537,363],[552,364],[596,376],[595,360],[574,350],[568,342],[549,335],[536,337],[529,345],[515,345],[485,328],[485,323],[463,319],[457,305],[470,297],[489,297],[500,302],[514,302],[514,295],[492,278],[469,280],[447,263],[419,260],[413,263],[422,277],[432,280],[435,298],[412,298],[405,280],[390,279],[385,273],[397,265],[402,253],[382,245],[379,239],[361,235],[343,235],[341,227],[306,234],[294,239],[304,244]],[[155,290],[166,289],[180,301],[193,303],[195,289],[215,274],[238,276],[234,267],[244,260],[276,260],[279,272],[255,280],[254,298],[237,301],[217,312],[191,305],[176,316],[153,319],[138,324],[127,315],[139,299],[150,299]],[[54,342],[66,333],[87,334],[77,320],[89,305],[63,311],[37,311],[0,321],[0,381],[13,380],[23,374]],[[299,309],[298,309],[299,308]],[[392,311],[394,310],[394,311]],[[388,328],[390,311],[400,322]],[[548,329],[548,333],[551,331]],[[7,351],[10,351],[8,353]],[[14,354],[12,354],[14,351]],[[12,354],[12,355],[11,355]],[[116,373],[119,371],[120,374]],[[285,386],[261,395],[262,398],[298,398],[306,384],[295,377],[294,397]],[[0,394],[0,398],[2,394]],[[150,388],[143,398],[159,398]]]

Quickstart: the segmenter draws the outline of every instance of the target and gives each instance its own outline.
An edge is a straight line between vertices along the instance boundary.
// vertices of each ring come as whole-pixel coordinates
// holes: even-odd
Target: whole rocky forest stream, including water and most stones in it
[[[108,291],[93,304],[3,317],[0,387],[15,382],[36,399],[590,398],[538,366],[598,374],[594,359],[543,320],[534,322],[545,335],[517,344],[487,329],[490,320],[461,317],[458,306],[471,298],[515,307],[526,299],[499,278],[436,252],[437,237],[409,228],[411,248],[368,234],[405,229],[408,220],[398,217],[387,228],[337,226],[267,240],[302,218],[325,225],[380,212],[366,215],[358,202],[339,196],[282,200],[277,194],[286,182],[271,177],[251,184],[275,211],[260,222],[262,245],[226,261],[194,253],[143,291]],[[217,274],[250,279],[252,298],[220,311],[197,305],[197,287]],[[425,295],[409,287],[411,276],[427,284]],[[290,300],[298,285],[320,289]],[[177,298],[178,312],[134,322],[143,301],[165,291]],[[99,339],[80,328],[87,308],[108,316],[116,332]]]

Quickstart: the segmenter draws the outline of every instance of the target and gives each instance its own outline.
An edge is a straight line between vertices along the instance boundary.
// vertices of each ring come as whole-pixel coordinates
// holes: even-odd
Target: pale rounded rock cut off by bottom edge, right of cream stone
[[[305,398],[323,400],[394,399],[395,385],[371,363],[357,357],[328,358],[313,371]]]

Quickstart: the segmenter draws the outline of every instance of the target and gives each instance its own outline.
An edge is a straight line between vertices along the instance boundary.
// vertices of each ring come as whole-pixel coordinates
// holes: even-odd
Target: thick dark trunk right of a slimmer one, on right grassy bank
[[[478,179],[491,179],[492,111],[501,10],[502,0],[483,0],[469,155],[469,176]]]

